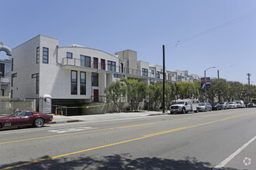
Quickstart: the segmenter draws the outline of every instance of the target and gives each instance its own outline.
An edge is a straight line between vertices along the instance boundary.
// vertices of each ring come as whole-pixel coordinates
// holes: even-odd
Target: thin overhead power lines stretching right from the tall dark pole
[[[253,17],[254,15],[256,15],[256,10],[253,10],[251,12],[248,12],[247,14],[241,15],[237,19],[233,19],[230,22],[226,22],[226,23],[224,23],[224,24],[222,24],[220,26],[216,26],[213,29],[208,29],[208,30],[206,30],[204,32],[196,33],[196,34],[194,34],[192,36],[188,36],[188,37],[186,37],[184,39],[179,39],[178,41],[175,41],[175,42],[172,42],[170,44],[165,45],[165,47],[166,46],[175,47],[175,46],[181,45],[182,43],[191,41],[192,39],[199,38],[200,36],[205,36],[206,34],[209,34],[210,32],[213,32],[213,31],[216,31],[216,30],[219,30],[219,29],[223,29],[224,27],[234,25],[237,22],[241,22],[241,21],[243,21],[245,19],[249,19],[249,18]]]

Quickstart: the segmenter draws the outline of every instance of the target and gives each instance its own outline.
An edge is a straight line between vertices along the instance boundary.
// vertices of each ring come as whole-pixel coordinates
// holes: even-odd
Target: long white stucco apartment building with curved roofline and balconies
[[[105,102],[104,90],[120,76],[150,84],[163,79],[162,66],[137,61],[127,49],[115,56],[99,49],[59,46],[58,39],[36,36],[12,49],[11,96],[36,99],[50,94],[53,105],[84,106]],[[177,73],[167,71],[167,80]]]

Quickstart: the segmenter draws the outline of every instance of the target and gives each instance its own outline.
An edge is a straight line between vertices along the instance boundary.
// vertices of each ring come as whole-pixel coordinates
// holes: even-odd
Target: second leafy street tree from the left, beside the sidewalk
[[[121,81],[126,83],[127,100],[130,102],[132,110],[138,111],[140,102],[147,95],[147,84],[143,81],[123,78]]]

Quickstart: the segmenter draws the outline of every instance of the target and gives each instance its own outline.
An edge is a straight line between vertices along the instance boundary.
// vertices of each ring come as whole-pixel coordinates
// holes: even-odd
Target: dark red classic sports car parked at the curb
[[[0,117],[0,128],[35,126],[43,127],[43,124],[51,121],[53,115],[41,114],[32,110],[19,110],[11,116]]]

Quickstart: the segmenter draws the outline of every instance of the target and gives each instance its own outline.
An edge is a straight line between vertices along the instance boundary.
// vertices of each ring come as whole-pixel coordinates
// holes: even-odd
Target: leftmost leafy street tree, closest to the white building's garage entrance
[[[112,82],[109,87],[106,87],[106,100],[112,101],[117,108],[117,111],[120,112],[122,110],[122,102],[126,97],[126,85],[117,80],[116,82]]]

